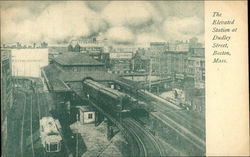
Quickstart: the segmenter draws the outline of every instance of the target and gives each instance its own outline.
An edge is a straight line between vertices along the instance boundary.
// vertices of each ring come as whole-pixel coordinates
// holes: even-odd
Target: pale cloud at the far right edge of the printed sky
[[[166,19],[163,32],[168,40],[188,40],[193,36],[204,34],[204,21],[197,16]]]

